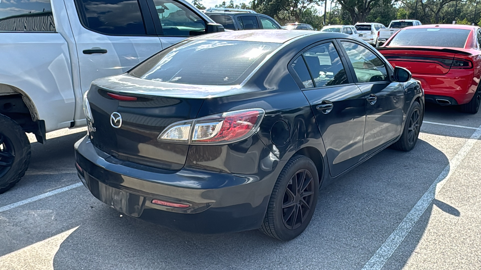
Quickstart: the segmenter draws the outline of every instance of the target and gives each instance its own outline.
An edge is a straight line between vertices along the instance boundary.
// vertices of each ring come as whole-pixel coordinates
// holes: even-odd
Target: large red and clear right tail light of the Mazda
[[[266,112],[263,109],[228,111],[173,123],[157,137],[170,143],[222,145],[253,135]]]

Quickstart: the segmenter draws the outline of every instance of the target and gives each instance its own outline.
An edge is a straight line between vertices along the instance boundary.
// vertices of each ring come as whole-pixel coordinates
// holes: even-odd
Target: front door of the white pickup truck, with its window
[[[162,47],[174,45],[186,38],[207,32],[206,21],[192,8],[174,0],[147,0],[154,7],[153,20]],[[153,6],[152,6],[153,3]]]

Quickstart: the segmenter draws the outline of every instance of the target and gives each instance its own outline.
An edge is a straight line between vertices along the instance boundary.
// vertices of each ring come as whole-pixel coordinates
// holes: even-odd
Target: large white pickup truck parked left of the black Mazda
[[[86,125],[93,80],[222,31],[185,0],[1,0],[0,194],[28,167],[25,132],[45,143],[47,132]]]

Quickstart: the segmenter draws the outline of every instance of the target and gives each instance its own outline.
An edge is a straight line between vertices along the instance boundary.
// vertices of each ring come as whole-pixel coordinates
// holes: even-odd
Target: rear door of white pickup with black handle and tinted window
[[[145,0],[75,0],[74,10],[69,2],[82,93],[93,80],[125,73],[162,50]]]

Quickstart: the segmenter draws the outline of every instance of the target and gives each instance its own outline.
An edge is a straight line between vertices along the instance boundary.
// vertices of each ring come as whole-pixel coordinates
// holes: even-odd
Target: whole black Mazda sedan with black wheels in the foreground
[[[84,103],[76,167],[102,202],[180,230],[290,240],[321,186],[415,146],[424,93],[360,39],[253,30],[166,48],[94,81]]]

